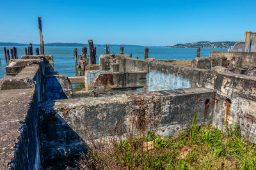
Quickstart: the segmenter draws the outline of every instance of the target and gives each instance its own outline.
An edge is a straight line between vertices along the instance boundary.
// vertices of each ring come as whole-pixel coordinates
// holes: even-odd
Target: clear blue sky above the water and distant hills
[[[1,1],[0,41],[165,46],[243,41],[256,32],[256,1]]]

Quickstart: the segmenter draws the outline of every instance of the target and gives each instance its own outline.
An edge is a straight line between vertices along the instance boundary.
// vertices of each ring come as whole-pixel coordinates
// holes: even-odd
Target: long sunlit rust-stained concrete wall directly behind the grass
[[[122,136],[132,129],[154,129],[164,137],[191,124],[194,111],[198,113],[199,124],[211,124],[214,98],[214,90],[182,89],[49,101],[40,112],[54,115],[56,121],[65,120],[84,141],[90,133],[97,139],[116,132]]]

